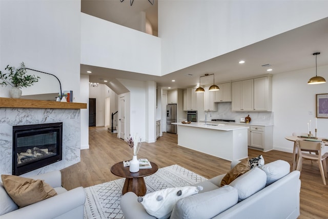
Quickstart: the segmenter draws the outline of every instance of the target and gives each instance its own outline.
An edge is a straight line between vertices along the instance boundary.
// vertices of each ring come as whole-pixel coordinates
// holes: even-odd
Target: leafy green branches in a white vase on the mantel
[[[8,73],[2,73],[0,71],[0,79],[2,86],[10,85],[12,88],[9,90],[9,94],[12,98],[20,98],[22,96],[22,87],[32,86],[35,82],[38,82],[39,76],[28,75],[24,63],[20,64],[20,68],[15,68],[7,65],[5,70]]]

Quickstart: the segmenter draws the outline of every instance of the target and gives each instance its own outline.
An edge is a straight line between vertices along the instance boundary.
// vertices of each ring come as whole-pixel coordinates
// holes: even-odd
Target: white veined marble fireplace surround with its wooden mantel
[[[63,160],[22,176],[60,170],[80,162],[80,109],[84,103],[61,103],[0,97],[0,174],[12,174],[12,127],[63,122]]]

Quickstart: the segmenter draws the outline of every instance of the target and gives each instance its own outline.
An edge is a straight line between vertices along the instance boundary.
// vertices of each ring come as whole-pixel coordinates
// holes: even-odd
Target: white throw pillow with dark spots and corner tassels
[[[199,190],[202,190],[202,188],[195,186],[167,188],[148,193],[144,197],[138,197],[138,202],[144,206],[150,215],[164,219],[170,217],[173,207],[178,200],[197,194]]]

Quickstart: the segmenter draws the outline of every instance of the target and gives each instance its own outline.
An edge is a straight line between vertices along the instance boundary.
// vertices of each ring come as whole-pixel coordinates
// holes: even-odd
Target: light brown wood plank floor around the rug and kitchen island
[[[286,140],[286,144],[293,147],[292,142]],[[63,187],[66,189],[89,187],[116,180],[119,177],[111,173],[111,166],[132,157],[128,144],[117,138],[117,134],[108,132],[105,127],[89,128],[89,146],[90,149],[81,150],[81,162],[61,170]],[[259,154],[263,155],[265,163],[279,159],[290,164],[292,161],[291,153],[249,149],[250,157]],[[165,132],[155,143],[142,144],[138,157],[148,158],[159,168],[178,164],[207,178],[226,173],[230,169],[229,161],[177,146],[177,135]],[[322,183],[318,165],[310,161],[303,162],[300,178],[299,218],[328,218],[328,186]]]

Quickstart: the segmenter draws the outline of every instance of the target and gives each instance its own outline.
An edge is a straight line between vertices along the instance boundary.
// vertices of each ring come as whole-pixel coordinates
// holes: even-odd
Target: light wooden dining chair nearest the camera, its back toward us
[[[322,182],[326,185],[327,177],[327,165],[326,165],[326,155],[321,155],[321,148],[324,146],[322,142],[308,142],[296,140],[296,146],[298,149],[298,162],[296,170],[302,170],[303,160],[317,161],[319,165],[319,170],[322,178]],[[317,151],[318,154],[308,153],[309,150]]]

